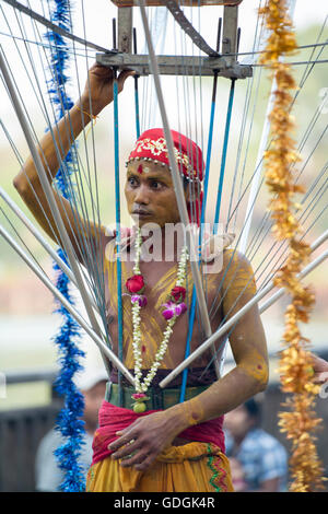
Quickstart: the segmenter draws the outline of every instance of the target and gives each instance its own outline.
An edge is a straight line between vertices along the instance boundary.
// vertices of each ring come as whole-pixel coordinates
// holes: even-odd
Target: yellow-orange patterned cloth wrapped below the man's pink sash
[[[229,460],[206,443],[169,446],[147,471],[105,458],[91,467],[86,492],[233,492]]]

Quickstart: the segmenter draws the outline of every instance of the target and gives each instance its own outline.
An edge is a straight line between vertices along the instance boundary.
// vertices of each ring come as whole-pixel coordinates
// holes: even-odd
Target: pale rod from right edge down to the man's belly
[[[315,243],[311,246],[312,252],[314,252],[318,247],[318,242],[323,244],[325,241],[328,240],[328,230],[318,238],[315,241]],[[313,262],[311,262],[308,266],[304,268],[304,270],[300,273],[300,278],[305,277],[307,273],[309,273],[314,269],[314,265],[318,266],[323,260],[325,260],[328,257],[328,252],[326,250],[323,254],[323,257],[317,258]],[[247,302],[234,316],[232,316],[222,327],[220,327],[211,337],[209,337],[200,347],[197,348],[185,361],[183,361],[175,370],[173,370],[162,382],[160,382],[160,387],[166,387],[169,382],[173,381],[179,373],[181,373],[185,367],[187,367],[191,362],[195,361],[201,353],[203,353],[209,347],[211,347],[220,337],[222,337],[224,334],[229,331],[230,328],[233,327],[235,323],[237,323],[244,314],[246,314],[249,308],[251,308],[254,305],[256,305],[262,297],[265,297],[272,289],[274,289],[274,283],[271,281],[268,283],[266,288],[263,288],[261,291],[259,291],[249,302]],[[282,288],[283,289],[283,288]],[[278,291],[280,293],[280,290]],[[283,289],[283,292],[285,290]],[[279,297],[281,294],[279,294]],[[270,299],[271,300],[271,299]],[[272,305],[273,302],[267,302],[268,307]],[[263,307],[261,308],[261,313],[263,312]]]

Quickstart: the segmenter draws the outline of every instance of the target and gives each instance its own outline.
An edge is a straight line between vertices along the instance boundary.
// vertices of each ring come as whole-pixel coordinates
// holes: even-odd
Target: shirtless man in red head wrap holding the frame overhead
[[[119,92],[129,74],[131,73],[127,71],[119,74]],[[71,108],[69,116],[62,118],[54,128],[62,157],[83,126],[113,101],[113,80],[112,70],[97,65],[91,68],[82,97]],[[177,132],[174,132],[173,137],[179,171],[187,182],[185,197],[189,212],[198,210],[199,213],[203,170],[201,150]],[[39,154],[51,183],[59,162],[49,132],[40,142]],[[190,182],[192,187],[188,187]],[[60,241],[31,157],[16,176],[14,185],[38,223],[50,237],[54,238],[55,234]],[[142,229],[155,223],[160,227],[164,248],[165,225],[177,224],[180,219],[163,131],[147,132],[138,140],[128,161],[125,194],[128,211],[137,227]],[[117,268],[115,259],[108,255],[113,252],[109,244],[113,236],[106,235],[103,227],[92,223],[80,223],[77,226],[70,203],[63,198],[59,199],[56,192],[55,196],[69,237],[82,262],[83,256],[77,244],[81,241],[81,233],[83,238],[89,241],[99,238],[101,234],[98,247],[103,255],[98,260],[102,261],[101,257],[105,256],[105,269],[102,271],[105,276],[108,330],[117,352]],[[130,240],[128,252],[134,246],[133,241],[138,242],[136,234],[134,240],[133,236]],[[266,387],[268,359],[265,332],[258,308],[255,306],[230,334],[236,362],[234,370],[219,381],[213,373],[213,366],[204,373],[211,359],[209,351],[200,355],[194,362],[195,367],[189,370],[186,401],[179,402],[180,376],[171,383],[166,390],[159,388],[161,379],[184,360],[188,331],[186,313],[178,317],[174,315],[173,328],[171,322],[167,322],[168,318],[164,318],[164,313],[161,313],[163,304],[168,305],[168,311],[179,308],[181,312],[186,294],[185,282],[192,284],[190,269],[187,266],[184,271],[184,262],[177,255],[176,247],[173,254],[173,262],[141,260],[137,264],[133,259],[122,262],[124,282],[128,284],[128,279],[133,278],[134,285],[137,283],[136,290],[128,289],[122,295],[122,360],[136,376],[140,375],[143,389],[133,389],[130,384],[124,384],[124,404],[120,407],[117,373],[113,370],[106,396],[108,401],[104,401],[101,409],[99,429],[94,441],[94,459],[87,483],[91,491],[232,490],[229,463],[224,455],[222,416]],[[142,288],[138,285],[140,281]],[[188,304],[191,289],[189,287],[186,297]],[[219,308],[212,320],[212,330],[215,330],[223,316],[235,314],[256,292],[247,259],[243,255],[225,250],[222,270],[208,276],[207,289],[209,306],[215,304],[219,299]],[[173,297],[176,291],[181,294]],[[142,297],[143,292],[147,305]],[[137,302],[143,302],[140,313],[137,312]],[[196,323],[190,342],[191,351],[203,339],[201,326]],[[142,411],[144,409],[147,410]]]

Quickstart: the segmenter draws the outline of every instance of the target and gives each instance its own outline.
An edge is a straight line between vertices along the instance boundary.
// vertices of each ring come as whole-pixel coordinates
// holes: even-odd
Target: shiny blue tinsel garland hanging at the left
[[[54,0],[54,10],[51,12],[51,21],[58,26],[70,31],[70,1]],[[51,77],[48,81],[48,91],[51,102],[56,105],[56,116],[60,119],[65,112],[73,105],[66,92],[68,77],[66,75],[66,67],[68,63],[68,51],[65,39],[52,32],[46,34],[50,44],[54,45],[51,51]],[[67,184],[66,174],[72,173],[74,156],[69,152],[66,157],[66,172],[60,168],[56,182],[60,192],[66,198],[70,197],[70,188]],[[66,259],[61,249],[59,256]],[[69,291],[69,279],[55,264],[54,269],[57,273],[56,285],[65,297],[73,304],[73,300]],[[62,324],[59,334],[55,338],[58,347],[60,372],[56,381],[55,387],[60,396],[65,399],[65,406],[60,411],[57,420],[56,429],[66,439],[66,442],[55,451],[59,468],[63,471],[65,478],[60,484],[60,490],[65,492],[80,492],[85,488],[85,477],[83,476],[82,466],[79,464],[79,456],[84,443],[84,421],[81,419],[84,411],[83,395],[78,390],[73,376],[78,371],[82,370],[81,358],[84,353],[74,343],[74,339],[80,337],[79,325],[72,318],[70,313],[60,304],[56,309],[62,316]]]

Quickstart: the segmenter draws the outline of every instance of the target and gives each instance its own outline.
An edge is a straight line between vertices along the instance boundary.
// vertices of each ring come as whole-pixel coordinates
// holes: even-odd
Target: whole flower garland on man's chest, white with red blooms
[[[147,396],[147,390],[152,383],[162,360],[167,350],[167,344],[169,337],[173,332],[173,326],[177,320],[178,316],[184,314],[187,311],[187,306],[184,302],[186,296],[186,289],[183,287],[186,280],[186,268],[187,268],[187,260],[188,260],[188,250],[186,247],[181,249],[180,260],[178,264],[178,271],[177,271],[177,280],[176,287],[173,288],[171,291],[169,299],[166,303],[163,304],[165,309],[163,311],[163,316],[167,320],[167,326],[163,334],[163,340],[160,344],[160,348],[155,354],[154,362],[149,370],[148,375],[145,376],[143,383],[141,382],[142,378],[142,358],[141,358],[141,329],[140,329],[140,311],[142,307],[147,305],[147,296],[143,293],[144,291],[144,280],[143,276],[140,271],[140,256],[141,256],[141,245],[142,245],[142,237],[140,227],[137,229],[136,235],[136,262],[133,267],[133,276],[130,277],[126,282],[126,288],[131,293],[131,305],[132,305],[132,324],[133,324],[133,357],[134,357],[134,384],[136,384],[136,392],[132,395],[132,399],[136,400],[133,405],[134,412],[143,412],[147,410],[147,406],[144,401],[149,399]]]

